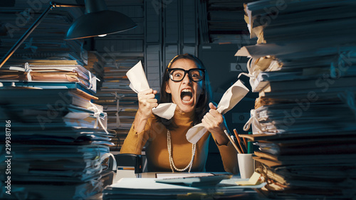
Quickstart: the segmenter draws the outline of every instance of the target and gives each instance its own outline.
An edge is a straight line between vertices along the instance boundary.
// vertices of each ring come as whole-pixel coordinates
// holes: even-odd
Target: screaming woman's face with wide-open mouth
[[[170,68],[189,70],[197,68],[197,65],[193,60],[182,58],[172,63]],[[179,112],[192,112],[194,110],[203,91],[201,85],[203,81],[194,82],[190,80],[188,73],[179,82],[168,80],[166,92],[172,95],[172,102],[177,104]]]

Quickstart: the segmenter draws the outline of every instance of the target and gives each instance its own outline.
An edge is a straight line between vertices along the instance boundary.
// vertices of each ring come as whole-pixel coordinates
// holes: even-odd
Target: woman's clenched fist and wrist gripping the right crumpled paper
[[[228,130],[224,116],[216,110],[216,107],[212,102],[209,103],[209,107],[209,112],[206,113],[201,122],[204,127],[214,135],[218,144],[227,144],[229,138],[226,137],[224,132],[224,130]]]

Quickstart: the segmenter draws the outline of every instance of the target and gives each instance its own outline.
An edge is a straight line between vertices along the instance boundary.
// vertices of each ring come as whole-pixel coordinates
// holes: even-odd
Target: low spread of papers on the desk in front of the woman
[[[226,179],[219,184],[187,186],[186,184],[164,184],[158,179],[122,178],[103,191],[103,200],[114,199],[260,199],[253,189],[256,186],[239,186],[241,179]]]

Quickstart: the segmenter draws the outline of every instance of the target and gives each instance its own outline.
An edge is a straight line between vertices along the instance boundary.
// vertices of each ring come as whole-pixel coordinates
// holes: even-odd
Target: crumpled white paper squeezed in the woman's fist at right
[[[224,93],[217,107],[217,111],[224,115],[226,112],[231,110],[242,98],[244,98],[247,93],[248,89],[246,86],[241,83],[241,80],[237,80],[236,83],[231,85],[231,87]],[[202,123],[195,125],[188,130],[186,135],[187,140],[190,143],[195,144],[200,140],[205,132],[206,128]]]

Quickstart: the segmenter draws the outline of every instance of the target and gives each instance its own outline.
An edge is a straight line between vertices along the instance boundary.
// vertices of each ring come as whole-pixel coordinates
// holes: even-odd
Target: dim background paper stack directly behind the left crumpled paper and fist
[[[138,109],[137,94],[129,87],[130,80],[126,76],[138,59],[117,58],[107,61],[104,66],[103,85],[97,93],[99,100],[95,102],[103,105],[108,113],[108,128],[117,132],[117,137],[112,140],[115,143],[112,150],[120,149]]]

